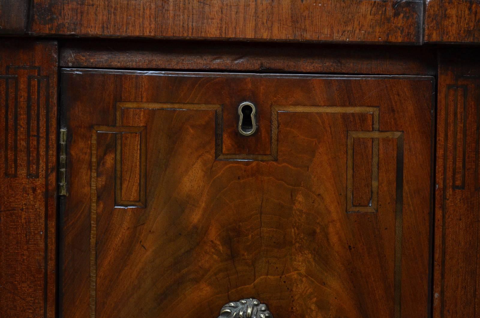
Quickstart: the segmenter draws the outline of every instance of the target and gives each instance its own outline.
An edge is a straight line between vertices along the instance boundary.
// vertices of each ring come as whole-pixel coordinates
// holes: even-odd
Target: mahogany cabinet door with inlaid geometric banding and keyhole
[[[64,69],[61,313],[427,317],[433,82]]]

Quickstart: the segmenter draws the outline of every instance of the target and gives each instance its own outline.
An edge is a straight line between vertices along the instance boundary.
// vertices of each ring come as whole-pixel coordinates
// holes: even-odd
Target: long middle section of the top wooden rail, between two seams
[[[34,0],[32,32],[420,44],[421,0]]]

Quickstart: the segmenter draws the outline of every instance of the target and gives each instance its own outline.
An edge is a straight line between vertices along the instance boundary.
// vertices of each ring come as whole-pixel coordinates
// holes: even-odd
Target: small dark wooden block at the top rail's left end
[[[0,34],[25,33],[28,6],[28,0],[1,0]]]

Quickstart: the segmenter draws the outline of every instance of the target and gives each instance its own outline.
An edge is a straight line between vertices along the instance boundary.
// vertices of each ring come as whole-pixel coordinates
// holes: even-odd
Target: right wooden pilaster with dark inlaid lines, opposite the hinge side
[[[439,60],[434,317],[480,312],[478,51]]]

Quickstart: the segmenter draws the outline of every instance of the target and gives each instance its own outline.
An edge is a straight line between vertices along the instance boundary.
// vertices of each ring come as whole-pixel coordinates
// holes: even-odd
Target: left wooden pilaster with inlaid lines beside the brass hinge
[[[57,43],[0,39],[0,316],[55,317]]]

